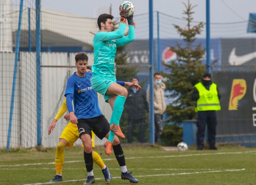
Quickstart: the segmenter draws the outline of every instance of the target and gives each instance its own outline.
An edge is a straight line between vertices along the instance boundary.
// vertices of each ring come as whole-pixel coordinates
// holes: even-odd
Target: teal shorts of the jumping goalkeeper
[[[91,76],[91,86],[93,86],[93,89],[95,91],[104,96],[105,102],[108,102],[108,99],[113,96],[105,94],[112,83],[116,83],[115,77],[105,77],[96,74],[93,74],[93,76]]]

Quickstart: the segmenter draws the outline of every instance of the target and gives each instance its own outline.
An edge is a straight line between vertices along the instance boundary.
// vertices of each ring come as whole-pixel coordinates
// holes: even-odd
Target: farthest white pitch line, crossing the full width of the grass
[[[188,157],[188,156],[202,156],[202,155],[223,155],[223,154],[246,154],[246,153],[256,153],[256,151],[245,151],[245,152],[217,152],[217,153],[202,153],[202,154],[185,154],[185,155],[166,155],[166,156],[150,156],[150,157],[126,157],[125,159],[143,159],[143,158],[168,158],[168,157]],[[102,158],[105,160],[116,160],[116,158]],[[65,163],[80,163],[83,160],[72,160],[65,161]],[[29,165],[50,165],[51,163],[30,163],[30,164],[17,164],[17,165],[0,165],[0,167],[14,167],[14,166],[29,166]]]

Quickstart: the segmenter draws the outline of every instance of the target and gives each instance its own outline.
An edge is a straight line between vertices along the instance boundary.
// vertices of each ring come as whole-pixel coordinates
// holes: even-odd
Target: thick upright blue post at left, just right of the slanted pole
[[[35,50],[37,55],[37,145],[41,146],[42,133],[41,133],[41,0],[35,1],[35,16],[36,16],[36,28],[35,28]]]

